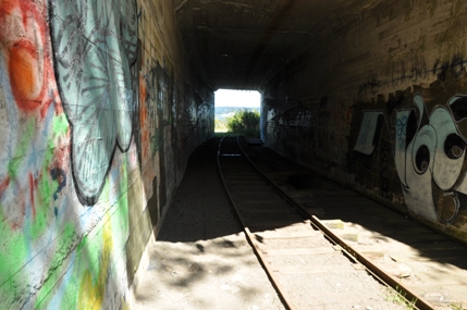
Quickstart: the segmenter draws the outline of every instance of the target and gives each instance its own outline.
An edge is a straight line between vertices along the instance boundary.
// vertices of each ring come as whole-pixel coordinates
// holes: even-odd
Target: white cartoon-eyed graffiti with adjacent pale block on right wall
[[[447,107],[430,102],[427,109],[423,97],[416,94],[413,103],[395,109],[390,123],[404,201],[419,216],[452,223],[467,201],[467,95],[452,97]],[[380,116],[385,114],[364,111],[354,153],[369,156],[377,149]]]

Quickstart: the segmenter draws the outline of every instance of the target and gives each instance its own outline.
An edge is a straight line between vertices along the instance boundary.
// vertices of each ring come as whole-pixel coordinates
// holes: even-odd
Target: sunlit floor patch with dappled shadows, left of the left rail
[[[133,309],[284,309],[243,234],[157,241]]]

